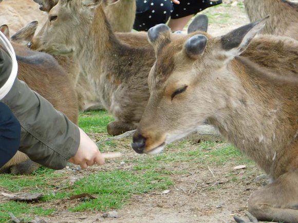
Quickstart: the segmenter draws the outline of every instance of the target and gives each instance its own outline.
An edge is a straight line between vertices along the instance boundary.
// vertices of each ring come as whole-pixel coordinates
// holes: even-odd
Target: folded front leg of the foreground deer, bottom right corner
[[[248,210],[258,220],[298,222],[298,170],[251,194]]]

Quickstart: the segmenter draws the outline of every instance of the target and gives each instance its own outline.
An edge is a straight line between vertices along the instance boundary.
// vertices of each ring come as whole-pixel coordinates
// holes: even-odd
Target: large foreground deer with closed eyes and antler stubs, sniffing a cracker
[[[151,95],[132,147],[154,155],[210,123],[271,179],[252,193],[249,212],[298,222],[298,42],[254,37],[265,21],[219,37],[195,32],[172,39],[166,25],[150,29]]]

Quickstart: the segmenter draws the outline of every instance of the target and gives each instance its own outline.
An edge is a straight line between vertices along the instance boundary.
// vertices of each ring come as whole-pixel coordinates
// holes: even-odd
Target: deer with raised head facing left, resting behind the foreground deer
[[[119,135],[138,126],[149,98],[147,76],[155,53],[152,46],[146,47],[144,33],[126,34],[135,45],[123,43],[123,38],[114,34],[103,7],[111,2],[117,0],[59,1],[49,11],[49,19],[31,48],[72,54],[87,76],[91,91],[97,93],[103,107],[116,119],[108,124],[107,132]],[[145,46],[137,44],[134,36],[143,39]]]

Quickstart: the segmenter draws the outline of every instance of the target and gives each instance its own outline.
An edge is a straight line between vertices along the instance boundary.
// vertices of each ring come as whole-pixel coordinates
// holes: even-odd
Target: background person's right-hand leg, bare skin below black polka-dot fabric
[[[221,4],[222,1],[210,0],[184,0],[180,4],[174,4],[174,11],[171,14],[169,27],[173,32],[183,30],[184,26],[188,24],[190,19],[198,12],[209,7]]]

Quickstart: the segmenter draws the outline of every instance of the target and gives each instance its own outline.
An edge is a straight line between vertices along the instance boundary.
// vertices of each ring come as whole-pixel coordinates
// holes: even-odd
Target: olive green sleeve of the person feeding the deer
[[[22,126],[20,151],[36,163],[63,169],[79,148],[80,132],[63,113],[26,83],[15,79],[10,92],[1,100]]]

